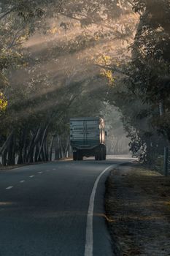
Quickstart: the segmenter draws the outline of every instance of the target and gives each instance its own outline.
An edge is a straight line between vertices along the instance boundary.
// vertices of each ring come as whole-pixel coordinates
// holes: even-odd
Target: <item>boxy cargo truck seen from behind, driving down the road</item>
[[[106,136],[103,118],[70,118],[70,144],[73,160],[82,160],[83,157],[105,160],[107,155]]]

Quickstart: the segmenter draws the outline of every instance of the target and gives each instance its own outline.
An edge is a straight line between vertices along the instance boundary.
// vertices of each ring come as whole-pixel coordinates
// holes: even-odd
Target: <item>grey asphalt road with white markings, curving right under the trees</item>
[[[1,171],[0,255],[112,255],[104,182],[111,165],[128,161],[50,162]]]

